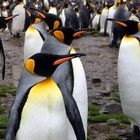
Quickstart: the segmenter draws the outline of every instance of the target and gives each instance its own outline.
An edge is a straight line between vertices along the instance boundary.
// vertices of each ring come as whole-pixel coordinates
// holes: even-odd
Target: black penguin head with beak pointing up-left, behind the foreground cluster
[[[46,24],[49,26],[47,30],[52,30],[52,29],[62,26],[62,21],[57,15],[44,13],[32,7],[31,9],[36,13],[36,15],[38,15],[40,18],[42,18],[46,22]]]

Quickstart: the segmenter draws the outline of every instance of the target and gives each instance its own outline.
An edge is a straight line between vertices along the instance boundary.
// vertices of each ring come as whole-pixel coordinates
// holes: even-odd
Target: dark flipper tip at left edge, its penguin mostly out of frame
[[[2,65],[2,79],[4,79],[4,76],[5,76],[5,55],[4,55],[4,49],[3,49],[1,39],[0,39],[0,63]]]

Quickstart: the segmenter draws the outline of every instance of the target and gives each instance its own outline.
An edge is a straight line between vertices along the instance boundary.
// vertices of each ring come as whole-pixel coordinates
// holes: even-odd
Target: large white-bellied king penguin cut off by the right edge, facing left
[[[132,123],[132,138],[137,140],[140,139],[140,22],[110,20],[125,32],[119,49],[118,83],[122,109]]]

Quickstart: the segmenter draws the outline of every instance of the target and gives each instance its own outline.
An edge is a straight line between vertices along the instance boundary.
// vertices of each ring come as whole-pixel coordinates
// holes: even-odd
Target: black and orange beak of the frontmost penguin
[[[67,55],[67,56],[64,56],[63,58],[57,59],[57,60],[53,63],[53,65],[54,65],[54,66],[55,66],[55,65],[60,65],[60,64],[62,64],[62,63],[64,63],[64,62],[66,62],[66,61],[69,61],[69,60],[73,59],[73,58],[81,57],[81,56],[85,56],[85,55],[86,55],[86,54],[84,54],[84,53],[69,54],[69,55]]]

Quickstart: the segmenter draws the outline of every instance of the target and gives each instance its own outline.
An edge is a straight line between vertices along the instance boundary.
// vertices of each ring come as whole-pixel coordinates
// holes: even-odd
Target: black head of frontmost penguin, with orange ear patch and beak
[[[33,75],[39,75],[43,77],[50,77],[56,70],[56,68],[73,58],[84,56],[83,53],[75,53],[68,55],[54,55],[37,53],[31,56],[25,63],[25,68]]]

